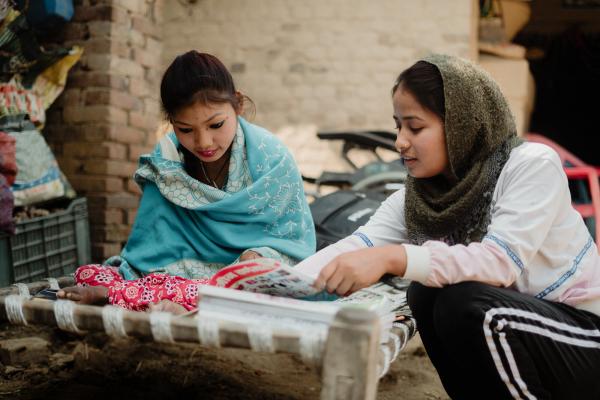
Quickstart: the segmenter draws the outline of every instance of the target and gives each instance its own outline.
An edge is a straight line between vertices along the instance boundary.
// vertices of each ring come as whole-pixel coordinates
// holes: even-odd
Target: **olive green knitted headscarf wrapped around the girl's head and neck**
[[[409,240],[449,244],[480,241],[490,224],[491,201],[510,151],[522,141],[494,80],[457,57],[432,55],[444,83],[446,146],[452,178],[409,177],[405,217]]]

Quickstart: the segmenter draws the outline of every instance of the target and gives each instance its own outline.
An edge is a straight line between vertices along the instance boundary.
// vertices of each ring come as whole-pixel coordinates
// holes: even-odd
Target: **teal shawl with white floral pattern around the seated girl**
[[[144,195],[118,260],[124,277],[167,272],[202,278],[238,258],[293,264],[314,251],[314,225],[291,155],[266,130],[241,117],[234,121],[222,188],[186,172],[173,132],[140,158],[135,179]]]

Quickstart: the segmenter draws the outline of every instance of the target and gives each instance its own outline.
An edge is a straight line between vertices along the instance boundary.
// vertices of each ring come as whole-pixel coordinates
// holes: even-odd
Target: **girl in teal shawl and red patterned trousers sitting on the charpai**
[[[123,252],[107,260],[108,268],[81,267],[76,279],[87,287],[60,297],[127,308],[133,302],[134,309],[165,299],[181,303],[157,287],[145,288],[143,299],[124,300],[120,293],[132,282],[123,279],[168,274],[193,285],[237,261],[295,264],[314,252],[314,224],[294,160],[276,137],[240,116],[249,99],[217,58],[195,51],[178,56],[163,76],[161,100],[174,131],[140,157],[135,180],[143,195]]]

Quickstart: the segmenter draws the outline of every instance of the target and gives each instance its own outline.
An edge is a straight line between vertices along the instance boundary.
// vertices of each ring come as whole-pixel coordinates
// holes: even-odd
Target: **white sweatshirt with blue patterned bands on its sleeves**
[[[492,221],[480,243],[406,243],[404,189],[400,189],[382,203],[365,226],[296,268],[317,275],[341,253],[404,244],[404,276],[424,285],[485,282],[600,315],[598,249],[571,205],[560,159],[546,145],[524,143],[513,149],[498,178]]]

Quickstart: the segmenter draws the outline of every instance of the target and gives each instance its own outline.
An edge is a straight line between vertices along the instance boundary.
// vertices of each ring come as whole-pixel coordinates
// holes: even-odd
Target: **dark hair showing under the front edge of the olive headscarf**
[[[392,88],[392,96],[400,85],[411,92],[419,104],[436,114],[444,122],[446,115],[444,81],[435,65],[427,61],[417,61],[402,71]]]

